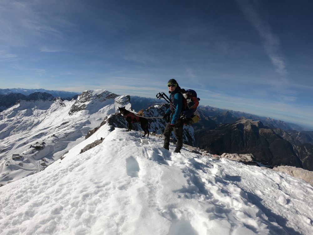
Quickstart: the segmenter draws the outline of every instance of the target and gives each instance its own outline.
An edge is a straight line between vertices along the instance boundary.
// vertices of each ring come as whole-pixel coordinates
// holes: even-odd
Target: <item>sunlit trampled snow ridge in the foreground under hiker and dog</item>
[[[95,148],[74,147],[0,188],[0,234],[313,234],[313,187],[303,180],[172,153],[139,132],[96,134],[105,139]]]

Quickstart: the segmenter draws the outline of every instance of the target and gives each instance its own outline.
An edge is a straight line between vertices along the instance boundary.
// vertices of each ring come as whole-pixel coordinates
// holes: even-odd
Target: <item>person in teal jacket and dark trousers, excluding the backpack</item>
[[[174,131],[175,137],[177,139],[176,149],[174,153],[180,153],[182,148],[182,127],[184,125],[180,118],[180,113],[182,112],[183,97],[180,93],[181,88],[179,87],[175,79],[170,79],[167,83],[170,100],[176,108],[170,104],[170,107],[165,112],[163,118],[167,118],[168,123],[164,130],[164,145],[163,148],[169,150],[170,145],[170,134]]]

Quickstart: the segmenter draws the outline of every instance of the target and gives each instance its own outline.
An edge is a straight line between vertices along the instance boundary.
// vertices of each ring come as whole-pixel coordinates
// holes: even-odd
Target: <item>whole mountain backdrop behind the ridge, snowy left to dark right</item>
[[[118,107],[126,106],[135,112],[134,103],[138,114],[146,117],[162,117],[169,107],[155,99],[119,96],[107,90],[84,91],[70,101],[46,92],[28,96],[9,93],[2,97],[7,99],[3,101],[5,105],[10,102],[15,102],[15,105],[0,113],[0,184],[39,172],[42,170],[39,161],[40,164],[42,161],[51,164],[74,142],[80,143],[84,136],[95,133],[99,128],[108,128],[107,131],[115,127],[126,128],[125,118],[118,112]],[[264,165],[289,165],[313,170],[312,131],[292,130],[282,121],[265,118],[263,122],[256,116],[253,116],[255,119],[237,118],[237,112],[214,107],[203,106],[198,111],[201,116],[199,123],[184,127],[184,144],[200,147],[211,154],[253,154],[256,161]],[[248,114],[240,112],[240,115]],[[165,126],[164,118],[149,119],[152,133],[164,132]],[[133,130],[141,130],[140,125],[134,123]],[[31,146],[42,142],[45,143],[43,151],[36,152]],[[22,154],[30,160],[23,161],[23,165],[12,165],[16,162],[7,161],[13,154]],[[22,173],[15,176],[15,170]]]

